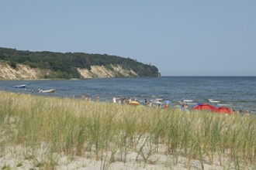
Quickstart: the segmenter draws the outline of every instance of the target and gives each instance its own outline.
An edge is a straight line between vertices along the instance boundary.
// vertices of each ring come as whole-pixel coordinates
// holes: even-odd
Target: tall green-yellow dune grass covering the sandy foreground
[[[223,169],[253,169],[256,117],[188,114],[0,91],[1,153],[22,155],[43,169],[54,169],[61,156],[72,159],[91,153],[106,169],[112,162],[129,161],[130,151],[145,165],[154,164],[151,155],[164,154],[170,155],[171,164],[166,165],[170,168],[185,157],[188,169],[192,159],[199,160],[201,169],[205,162]],[[22,159],[15,166],[22,166]]]

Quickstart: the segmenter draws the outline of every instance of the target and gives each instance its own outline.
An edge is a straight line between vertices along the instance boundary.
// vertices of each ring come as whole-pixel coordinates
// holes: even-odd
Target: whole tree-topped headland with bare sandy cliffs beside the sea
[[[72,79],[159,76],[135,59],[88,53],[30,52],[0,47],[0,79]]]

